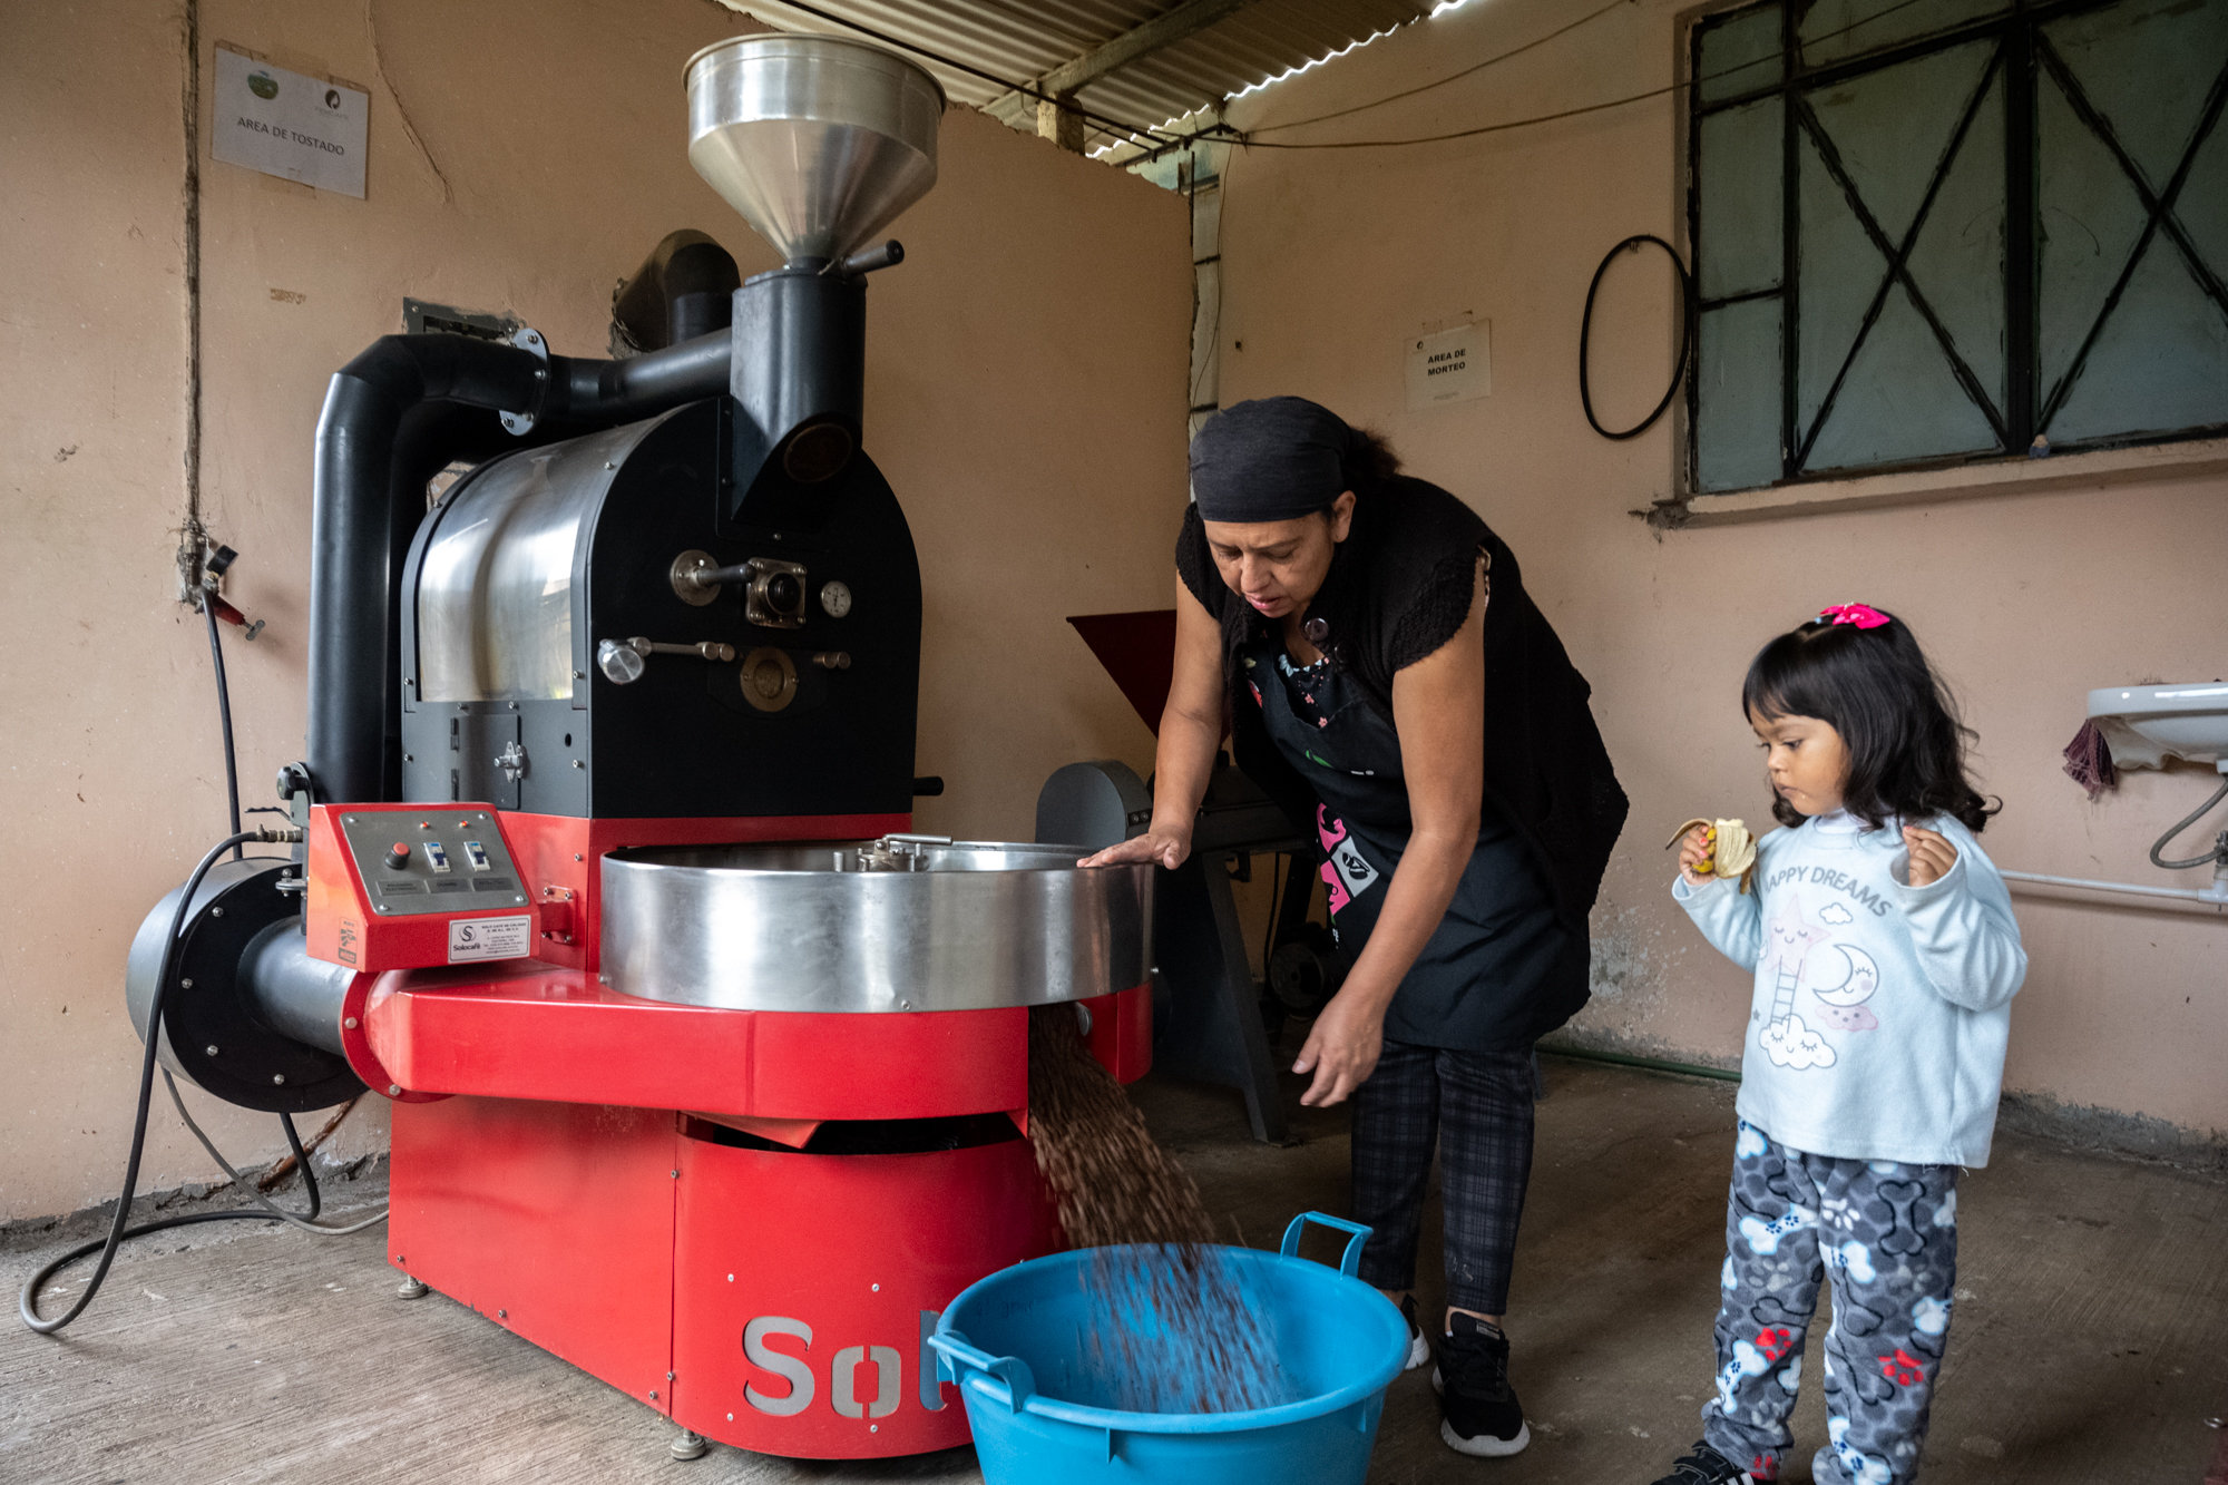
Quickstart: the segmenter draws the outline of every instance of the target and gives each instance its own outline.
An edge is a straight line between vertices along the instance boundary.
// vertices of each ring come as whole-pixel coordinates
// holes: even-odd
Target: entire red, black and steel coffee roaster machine
[[[938,1309],[1058,1240],[1029,1008],[1145,1072],[1150,870],[911,832],[922,582],[862,448],[864,279],[938,85],[751,36],[686,94],[784,265],[729,297],[653,259],[673,343],[624,361],[401,334],[334,377],[301,843],[156,908],[129,1001],[245,1108],[392,1101],[405,1293],[688,1447],[913,1454],[967,1438]]]

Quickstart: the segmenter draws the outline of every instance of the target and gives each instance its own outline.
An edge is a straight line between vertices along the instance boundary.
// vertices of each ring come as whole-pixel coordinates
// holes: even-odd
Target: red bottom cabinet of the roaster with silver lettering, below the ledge
[[[388,1258],[682,1427],[760,1454],[967,1443],[925,1336],[1058,1246],[1029,1144],[807,1155],[644,1108],[394,1106]]]

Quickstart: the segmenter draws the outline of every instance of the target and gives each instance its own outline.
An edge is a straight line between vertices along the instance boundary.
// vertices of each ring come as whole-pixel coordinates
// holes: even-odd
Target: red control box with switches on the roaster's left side
[[[488,805],[316,805],[310,954],[356,970],[521,959],[537,941],[526,879]]]

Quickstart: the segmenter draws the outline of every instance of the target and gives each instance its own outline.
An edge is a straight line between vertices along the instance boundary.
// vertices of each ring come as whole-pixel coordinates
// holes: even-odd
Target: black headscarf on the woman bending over
[[[1355,488],[1357,435],[1306,397],[1223,408],[1192,437],[1192,499],[1210,522],[1290,522]]]

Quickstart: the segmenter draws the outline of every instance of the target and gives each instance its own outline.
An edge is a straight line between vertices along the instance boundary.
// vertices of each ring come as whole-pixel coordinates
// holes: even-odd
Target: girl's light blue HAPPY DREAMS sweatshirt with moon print
[[[1956,865],[1909,883],[1896,821],[1843,812],[1756,845],[1756,890],[1671,887],[1702,936],[1756,970],[1736,1108],[1811,1155],[1985,1166],[2012,997],[2027,977],[2012,894],[1972,832],[1925,823]]]

